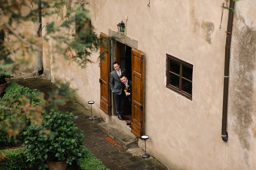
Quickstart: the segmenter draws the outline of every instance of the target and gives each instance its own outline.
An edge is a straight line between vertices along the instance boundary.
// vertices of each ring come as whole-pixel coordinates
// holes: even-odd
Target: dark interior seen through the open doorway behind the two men
[[[126,77],[131,80],[131,47],[121,43],[116,42],[116,59],[122,69],[126,69]],[[131,115],[131,105],[128,98],[125,101],[125,114],[126,116]]]

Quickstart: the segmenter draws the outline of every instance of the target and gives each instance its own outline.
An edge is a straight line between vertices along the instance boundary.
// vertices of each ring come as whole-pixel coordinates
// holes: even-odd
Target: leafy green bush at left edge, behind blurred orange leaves
[[[8,83],[5,87],[5,94],[0,99],[0,121],[3,121],[6,127],[14,127],[16,134],[35,117],[41,116],[33,110],[43,102],[41,93],[36,90],[24,88],[15,82]]]

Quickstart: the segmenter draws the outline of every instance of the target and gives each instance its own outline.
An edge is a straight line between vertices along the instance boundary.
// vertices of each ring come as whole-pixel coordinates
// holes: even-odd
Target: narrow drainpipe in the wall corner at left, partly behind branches
[[[42,37],[42,6],[41,0],[38,1],[38,27],[37,27],[37,37]],[[40,31],[41,30],[41,31]],[[35,63],[35,73],[39,75],[39,71],[43,70],[42,66],[42,43],[39,45],[38,48],[38,56],[36,56],[36,63]]]

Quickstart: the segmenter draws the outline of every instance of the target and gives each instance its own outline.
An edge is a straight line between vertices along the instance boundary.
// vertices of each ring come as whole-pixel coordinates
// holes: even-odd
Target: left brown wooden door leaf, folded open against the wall
[[[100,47],[100,53],[103,56],[100,60],[100,109],[110,115],[110,49],[108,48],[109,42],[106,42],[108,36],[100,33],[100,38],[102,38],[102,44],[106,44]]]

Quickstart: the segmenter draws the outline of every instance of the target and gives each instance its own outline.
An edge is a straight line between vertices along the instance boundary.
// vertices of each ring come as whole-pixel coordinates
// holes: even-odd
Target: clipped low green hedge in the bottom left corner
[[[28,169],[28,163],[24,154],[24,148],[12,149],[12,150],[0,150],[0,153],[4,153],[6,157],[0,161],[0,170],[24,170]]]

